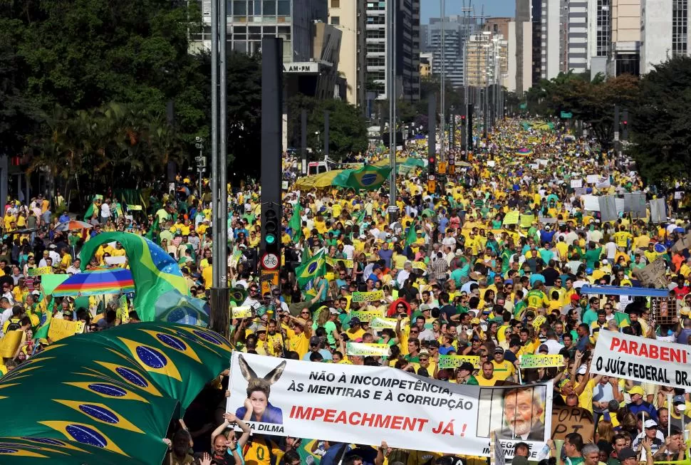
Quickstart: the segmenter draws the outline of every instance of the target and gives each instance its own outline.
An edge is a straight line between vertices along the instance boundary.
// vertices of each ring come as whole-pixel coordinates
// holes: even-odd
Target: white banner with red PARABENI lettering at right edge
[[[691,386],[691,346],[600,331],[591,371],[657,385]]]

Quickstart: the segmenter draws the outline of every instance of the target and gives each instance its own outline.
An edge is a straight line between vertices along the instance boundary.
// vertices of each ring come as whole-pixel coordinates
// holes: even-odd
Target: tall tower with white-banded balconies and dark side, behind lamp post
[[[350,1],[350,0],[341,0]],[[420,0],[381,0],[365,4],[366,79],[383,85],[376,98],[388,95],[386,38],[390,33],[387,5],[395,2],[395,93],[407,101],[420,100]]]

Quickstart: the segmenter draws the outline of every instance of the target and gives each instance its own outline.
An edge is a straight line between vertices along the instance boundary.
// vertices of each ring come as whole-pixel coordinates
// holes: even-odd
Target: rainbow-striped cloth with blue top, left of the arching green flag
[[[98,296],[119,292],[133,292],[135,281],[130,270],[106,268],[82,271],[67,278],[53,291],[53,296]]]

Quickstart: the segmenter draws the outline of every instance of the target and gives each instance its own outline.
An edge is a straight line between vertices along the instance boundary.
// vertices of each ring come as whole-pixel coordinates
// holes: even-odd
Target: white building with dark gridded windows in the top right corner
[[[640,1],[640,74],[675,56],[688,56],[689,0]]]

